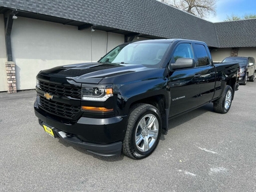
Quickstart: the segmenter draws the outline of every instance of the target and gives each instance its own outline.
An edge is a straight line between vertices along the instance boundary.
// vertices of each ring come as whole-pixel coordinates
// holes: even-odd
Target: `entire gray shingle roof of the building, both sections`
[[[243,28],[247,22],[237,22],[237,31],[232,22],[214,24],[156,0],[0,0],[0,6],[162,38],[200,40],[212,47],[255,42],[247,38],[252,33]]]

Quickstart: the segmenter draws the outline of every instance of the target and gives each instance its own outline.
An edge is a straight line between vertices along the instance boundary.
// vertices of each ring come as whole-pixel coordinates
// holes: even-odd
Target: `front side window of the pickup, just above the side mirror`
[[[194,58],[191,44],[180,44],[175,49],[173,60],[176,62],[179,58]]]

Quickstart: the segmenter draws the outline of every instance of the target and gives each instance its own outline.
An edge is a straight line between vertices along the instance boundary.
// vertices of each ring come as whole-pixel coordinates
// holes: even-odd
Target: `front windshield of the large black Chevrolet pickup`
[[[170,43],[139,43],[119,45],[99,63],[142,64],[146,67],[159,67]]]

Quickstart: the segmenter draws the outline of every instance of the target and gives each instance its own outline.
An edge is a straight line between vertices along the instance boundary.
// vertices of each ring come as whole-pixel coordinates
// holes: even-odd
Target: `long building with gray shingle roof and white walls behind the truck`
[[[7,90],[6,60],[15,63],[17,89],[24,90],[34,88],[26,81],[40,68],[95,61],[134,37],[204,41],[215,60],[232,48],[244,56],[256,47],[256,19],[212,23],[156,0],[0,0],[0,26],[0,91]],[[39,69],[28,74],[29,62]]]

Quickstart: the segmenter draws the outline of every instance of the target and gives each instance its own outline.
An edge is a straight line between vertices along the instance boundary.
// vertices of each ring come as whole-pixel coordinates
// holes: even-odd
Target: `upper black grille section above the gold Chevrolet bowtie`
[[[63,95],[75,99],[81,99],[81,88],[78,86],[63,86],[60,84],[39,81],[40,89],[53,95]]]

